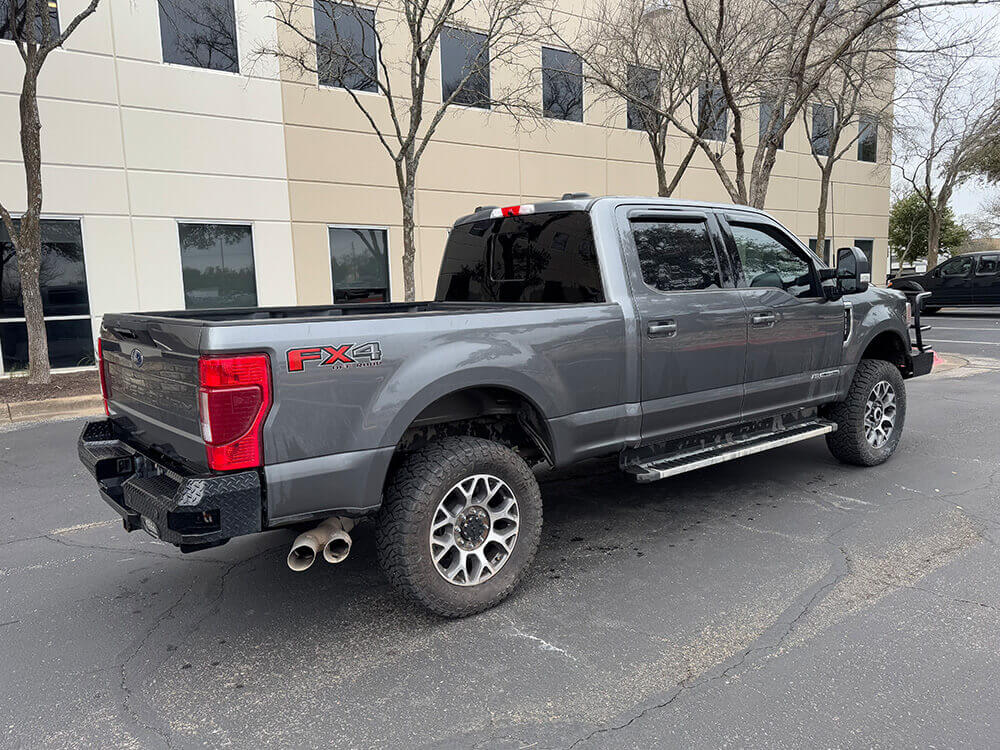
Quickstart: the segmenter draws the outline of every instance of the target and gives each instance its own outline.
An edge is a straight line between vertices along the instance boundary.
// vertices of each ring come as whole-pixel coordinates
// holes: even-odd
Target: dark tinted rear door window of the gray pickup
[[[719,266],[704,221],[632,222],[639,267],[661,292],[720,288]]]

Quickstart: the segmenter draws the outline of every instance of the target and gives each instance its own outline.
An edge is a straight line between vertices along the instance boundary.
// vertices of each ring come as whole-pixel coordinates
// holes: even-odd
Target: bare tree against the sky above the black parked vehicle
[[[937,265],[941,228],[955,189],[974,177],[1000,139],[1000,79],[973,53],[942,54],[914,76],[899,107],[895,166],[927,207],[927,267]]]

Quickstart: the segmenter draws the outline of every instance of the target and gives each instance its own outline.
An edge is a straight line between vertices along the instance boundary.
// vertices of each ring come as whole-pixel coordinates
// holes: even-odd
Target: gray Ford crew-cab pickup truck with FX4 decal
[[[184,552],[291,528],[304,570],[370,517],[390,581],[468,615],[530,564],[544,465],[650,482],[820,435],[888,459],[933,353],[869,278],[744,206],[484,207],[433,302],[105,315],[80,457],[126,530]]]

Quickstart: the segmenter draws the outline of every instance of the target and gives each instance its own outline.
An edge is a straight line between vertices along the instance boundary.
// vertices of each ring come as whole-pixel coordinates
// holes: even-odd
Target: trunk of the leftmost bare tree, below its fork
[[[42,262],[42,124],[38,115],[36,76],[25,71],[21,89],[21,155],[24,158],[28,210],[21,217],[18,231],[17,268],[21,277],[21,297],[28,329],[28,382],[48,383],[49,344],[42,314],[42,292],[38,274]],[[12,238],[13,239],[13,238]]]

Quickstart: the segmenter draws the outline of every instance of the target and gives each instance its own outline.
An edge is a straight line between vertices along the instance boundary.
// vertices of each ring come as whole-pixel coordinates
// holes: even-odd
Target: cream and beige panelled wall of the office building
[[[62,0],[62,25],[83,5]],[[384,227],[391,294],[402,299],[401,210],[388,155],[347,92],[254,59],[255,48],[277,44],[278,31],[265,4],[235,6],[239,74],[165,64],[151,0],[102,0],[46,64],[45,215],[81,220],[95,334],[108,311],[184,306],[178,221],[252,225],[260,305],[330,302],[327,227]],[[540,47],[532,51],[540,54]],[[432,69],[440,70],[437,54]],[[14,45],[0,40],[0,196],[15,213],[24,210],[21,71]],[[397,89],[406,85],[401,80]],[[536,91],[540,104],[541,81]],[[439,100],[439,80],[428,93]],[[462,107],[446,116],[419,174],[418,299],[434,294],[451,223],[478,205],[579,191],[655,194],[644,135],[626,129],[624,108],[595,103],[594,93],[585,89],[583,123],[548,120],[518,129],[508,117]],[[383,100],[359,96],[385,120]],[[747,126],[756,131],[755,123]],[[785,146],[767,208],[808,241],[816,230],[818,168],[801,125]],[[683,148],[671,141],[671,165]],[[884,161],[886,144],[879,150]],[[727,200],[701,154],[675,197]],[[888,208],[884,164],[838,164],[827,225],[832,245],[874,240],[877,281],[887,268]]]

